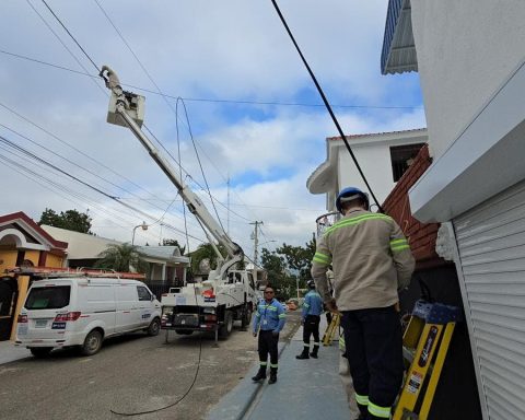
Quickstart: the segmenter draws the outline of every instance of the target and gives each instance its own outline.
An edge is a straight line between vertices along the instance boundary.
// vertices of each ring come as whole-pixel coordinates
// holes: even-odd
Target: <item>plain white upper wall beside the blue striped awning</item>
[[[523,61],[525,7],[411,0],[411,8],[430,154],[438,159]]]

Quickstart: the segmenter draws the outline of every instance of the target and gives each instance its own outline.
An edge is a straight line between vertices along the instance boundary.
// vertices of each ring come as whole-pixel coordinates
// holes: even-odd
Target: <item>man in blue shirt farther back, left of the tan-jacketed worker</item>
[[[301,324],[303,325],[303,352],[296,359],[317,359],[319,351],[319,322],[323,313],[323,299],[315,291],[314,280],[308,281],[308,293],[304,296]],[[310,336],[314,336],[314,349],[310,353]]]

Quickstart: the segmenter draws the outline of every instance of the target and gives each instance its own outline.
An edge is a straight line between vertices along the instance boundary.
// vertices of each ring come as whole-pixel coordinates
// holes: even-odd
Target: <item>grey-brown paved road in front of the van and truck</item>
[[[298,324],[298,313],[290,313],[281,339],[290,339]],[[129,415],[173,405],[133,418],[203,419],[257,361],[256,346],[249,331],[238,329],[219,348],[212,336],[199,334],[171,332],[166,345],[162,331],[109,339],[90,358],[60,350],[49,359],[8,363],[0,365],[0,418],[124,419],[112,410]],[[191,390],[175,404],[191,386],[197,368]]]

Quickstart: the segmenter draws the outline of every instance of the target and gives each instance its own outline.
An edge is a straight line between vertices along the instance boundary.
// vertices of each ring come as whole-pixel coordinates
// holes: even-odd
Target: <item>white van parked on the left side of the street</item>
[[[35,357],[54,348],[80,346],[96,353],[115,335],[161,328],[161,303],[137,280],[118,278],[55,278],[34,281],[21,310],[15,346]]]

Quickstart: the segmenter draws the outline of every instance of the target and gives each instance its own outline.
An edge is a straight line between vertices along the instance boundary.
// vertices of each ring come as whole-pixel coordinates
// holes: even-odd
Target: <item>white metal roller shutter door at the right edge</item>
[[[524,420],[525,183],[453,223],[489,419]]]

